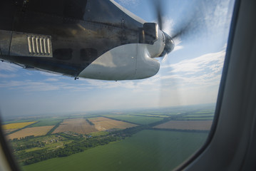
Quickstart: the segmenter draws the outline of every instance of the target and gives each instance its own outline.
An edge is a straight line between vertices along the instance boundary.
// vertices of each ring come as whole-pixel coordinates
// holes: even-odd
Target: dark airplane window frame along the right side
[[[256,169],[255,7],[253,0],[235,1],[215,133],[183,170]]]

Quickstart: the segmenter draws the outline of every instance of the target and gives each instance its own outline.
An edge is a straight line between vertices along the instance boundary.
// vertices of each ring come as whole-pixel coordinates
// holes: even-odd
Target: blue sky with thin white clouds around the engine
[[[133,14],[155,22],[148,0],[116,0]],[[74,80],[27,71],[0,62],[0,111],[3,117],[88,113],[93,110],[161,108],[216,103],[232,17],[232,0],[163,2],[163,30],[175,38],[175,49],[158,58],[160,71],[138,81]]]

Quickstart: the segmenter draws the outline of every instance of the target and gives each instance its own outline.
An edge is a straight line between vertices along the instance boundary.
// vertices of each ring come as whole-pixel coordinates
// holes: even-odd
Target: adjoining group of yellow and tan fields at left
[[[98,131],[110,130],[110,129],[126,129],[137,126],[132,123],[126,123],[123,121],[112,120],[109,118],[97,117],[90,118],[91,125],[85,118],[75,119],[43,119],[39,121],[26,122],[26,123],[9,123],[4,126],[4,132],[11,133],[14,130],[18,130],[15,133],[8,135],[8,139],[13,140],[14,138],[25,138],[27,136],[40,136],[46,135],[55,125],[61,123],[53,130],[53,133],[73,132],[78,134],[96,133]],[[26,128],[25,128],[26,127]]]

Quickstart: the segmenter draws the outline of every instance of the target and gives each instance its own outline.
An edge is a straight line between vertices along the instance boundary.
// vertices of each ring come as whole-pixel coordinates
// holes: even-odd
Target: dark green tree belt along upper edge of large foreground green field
[[[107,145],[109,142],[114,142],[118,140],[123,140],[126,137],[138,133],[140,130],[148,128],[147,125],[141,125],[133,128],[126,128],[124,130],[116,130],[108,135],[100,135],[98,137],[83,138],[81,136],[66,135],[64,133],[58,133],[58,135],[73,140],[73,142],[64,145],[63,148],[58,148],[55,150],[36,150],[31,152],[21,152],[18,154],[19,159],[23,160],[23,165],[31,165],[35,162],[41,162],[43,160],[48,160],[54,157],[67,157],[69,155],[76,154],[78,152],[83,152],[91,147],[97,147],[99,145]]]

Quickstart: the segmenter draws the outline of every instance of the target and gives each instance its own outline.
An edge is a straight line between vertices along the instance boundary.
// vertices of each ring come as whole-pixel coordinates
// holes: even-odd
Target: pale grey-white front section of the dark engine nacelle
[[[146,44],[118,46],[104,53],[78,77],[109,81],[149,78],[158,73],[160,63],[150,58]]]

